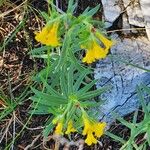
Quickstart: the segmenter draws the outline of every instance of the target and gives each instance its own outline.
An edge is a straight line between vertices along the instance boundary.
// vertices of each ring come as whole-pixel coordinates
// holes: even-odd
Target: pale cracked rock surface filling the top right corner
[[[150,1],[149,0],[101,0],[106,28],[122,17],[124,29],[145,28],[150,40]]]

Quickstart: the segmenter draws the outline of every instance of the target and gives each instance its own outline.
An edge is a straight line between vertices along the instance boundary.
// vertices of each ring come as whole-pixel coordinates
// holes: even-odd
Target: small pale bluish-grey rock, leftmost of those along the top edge
[[[118,0],[101,0],[101,2],[103,4],[105,21],[112,24],[121,13],[121,8],[116,5]]]

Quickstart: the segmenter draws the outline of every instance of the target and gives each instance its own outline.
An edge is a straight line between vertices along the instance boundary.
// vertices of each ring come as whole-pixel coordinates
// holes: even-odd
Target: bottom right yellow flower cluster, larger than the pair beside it
[[[85,143],[87,145],[96,144],[97,139],[104,134],[104,129],[106,127],[105,122],[92,122],[87,117],[83,116],[84,130],[83,135],[87,135]]]

